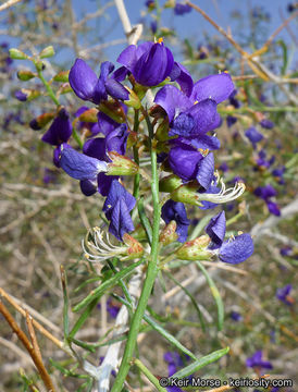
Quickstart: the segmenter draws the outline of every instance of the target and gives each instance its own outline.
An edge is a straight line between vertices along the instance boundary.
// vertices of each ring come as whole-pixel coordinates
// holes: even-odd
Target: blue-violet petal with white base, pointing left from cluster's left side
[[[94,180],[98,173],[107,171],[107,163],[88,157],[73,148],[62,148],[60,167],[73,179]]]

